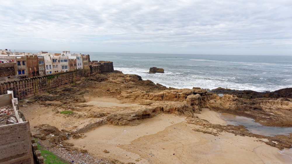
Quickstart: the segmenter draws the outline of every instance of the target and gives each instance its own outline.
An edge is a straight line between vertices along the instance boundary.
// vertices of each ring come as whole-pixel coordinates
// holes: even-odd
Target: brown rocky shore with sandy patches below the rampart
[[[278,101],[281,100],[267,100],[264,105]],[[215,159],[225,163],[232,156],[237,161],[284,163],[276,155],[279,149],[289,146],[289,142],[282,141],[285,138],[250,134],[241,126],[225,126],[226,121],[215,112],[228,109],[232,113],[240,105],[237,103],[244,102],[249,103],[235,95],[220,97],[202,89],[168,89],[140,80],[138,75],[109,73],[40,96],[21,110],[34,137],[43,136],[42,124],[55,126],[58,133],[69,136],[68,140],[45,135],[41,142],[48,147],[61,147],[53,142],[59,140],[67,143],[61,148],[86,150],[96,158],[136,164],[194,160],[210,163]],[[73,113],[60,114],[63,110]],[[273,145],[274,140],[280,142]],[[260,148],[255,151],[257,147],[269,149],[272,154],[266,157]]]

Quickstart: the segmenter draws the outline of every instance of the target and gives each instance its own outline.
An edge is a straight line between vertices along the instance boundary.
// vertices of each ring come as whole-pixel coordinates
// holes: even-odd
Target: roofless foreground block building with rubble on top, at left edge
[[[29,122],[18,110],[18,99],[13,97],[13,91],[7,91],[7,93],[0,95],[0,115],[4,115],[2,112],[9,113],[9,115],[4,115],[6,121],[0,122],[0,163],[33,164]]]

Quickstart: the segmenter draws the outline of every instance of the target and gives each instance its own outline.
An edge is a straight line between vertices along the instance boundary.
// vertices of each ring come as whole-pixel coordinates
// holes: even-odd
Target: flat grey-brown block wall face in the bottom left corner
[[[0,163],[33,164],[29,122],[0,126]]]

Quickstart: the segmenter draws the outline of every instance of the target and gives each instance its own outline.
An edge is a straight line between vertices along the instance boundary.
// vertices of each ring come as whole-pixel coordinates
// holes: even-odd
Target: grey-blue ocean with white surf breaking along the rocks
[[[34,50],[19,51],[38,53]],[[90,54],[91,60],[113,61],[115,70],[178,89],[222,87],[275,91],[292,87],[292,56],[77,53]],[[164,73],[150,74],[150,67],[163,68]]]

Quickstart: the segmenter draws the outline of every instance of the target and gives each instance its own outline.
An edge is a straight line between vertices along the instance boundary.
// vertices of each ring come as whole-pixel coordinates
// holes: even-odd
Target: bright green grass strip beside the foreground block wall
[[[67,164],[67,161],[63,161],[62,159],[58,158],[55,154],[53,154],[51,151],[48,151],[44,149],[40,144],[37,143],[37,139],[34,139],[36,141],[38,149],[41,151],[41,155],[44,157],[44,163],[45,164]]]

